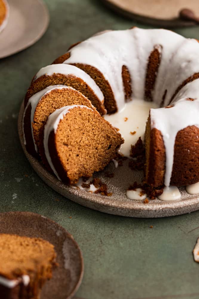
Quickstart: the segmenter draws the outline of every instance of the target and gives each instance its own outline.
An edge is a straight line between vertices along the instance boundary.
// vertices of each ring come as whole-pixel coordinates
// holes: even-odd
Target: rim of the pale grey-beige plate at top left
[[[34,45],[36,42],[38,42],[39,39],[41,39],[41,37],[44,35],[44,33],[46,32],[48,26],[49,26],[49,23],[50,23],[50,14],[49,14],[49,10],[48,10],[48,7],[47,7],[47,4],[43,1],[43,0],[34,0],[34,1],[37,1],[42,9],[43,9],[43,20],[44,20],[44,26],[42,28],[42,30],[39,32],[39,34],[37,33],[36,37],[31,39],[29,42],[26,43],[26,45],[23,45],[22,47],[18,47],[18,49],[15,49],[13,51],[10,51],[9,53],[7,54],[3,54],[1,55],[1,52],[0,52],[0,59],[3,59],[3,58],[6,58],[6,57],[9,57],[9,56],[12,56],[16,53],[19,53],[27,48],[29,48],[30,46]],[[9,3],[8,3],[9,4]],[[10,22],[10,18],[8,18],[8,22],[7,24]],[[6,26],[7,27],[7,26]],[[3,31],[6,30],[6,27],[4,28]]]

